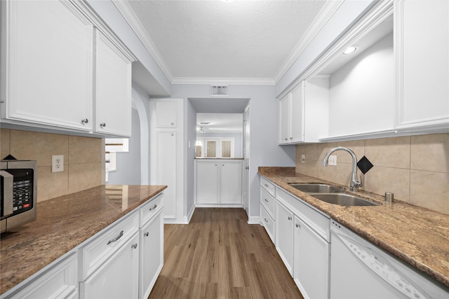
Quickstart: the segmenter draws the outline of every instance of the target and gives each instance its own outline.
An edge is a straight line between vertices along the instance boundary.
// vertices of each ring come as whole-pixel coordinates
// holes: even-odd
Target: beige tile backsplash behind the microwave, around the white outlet
[[[104,153],[104,139],[0,129],[1,159],[37,161],[38,202],[101,185]],[[52,155],[64,155],[63,172],[51,172]]]

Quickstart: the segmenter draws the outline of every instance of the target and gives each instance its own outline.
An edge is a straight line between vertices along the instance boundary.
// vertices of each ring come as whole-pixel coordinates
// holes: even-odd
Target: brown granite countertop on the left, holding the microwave
[[[165,188],[167,186],[98,186],[39,202],[36,221],[1,234],[0,293],[13,288]]]

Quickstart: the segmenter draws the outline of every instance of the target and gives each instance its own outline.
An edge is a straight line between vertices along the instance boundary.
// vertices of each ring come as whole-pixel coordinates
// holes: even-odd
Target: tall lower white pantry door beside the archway
[[[156,132],[157,185],[166,185],[164,193],[164,217],[176,218],[176,132]]]

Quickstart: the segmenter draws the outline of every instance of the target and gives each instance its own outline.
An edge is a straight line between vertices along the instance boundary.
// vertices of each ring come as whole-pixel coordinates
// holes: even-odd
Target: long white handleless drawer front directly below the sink
[[[302,221],[307,223],[318,235],[330,242],[330,218],[310,207],[300,198],[294,197],[284,190],[277,188],[276,198],[288,205]]]

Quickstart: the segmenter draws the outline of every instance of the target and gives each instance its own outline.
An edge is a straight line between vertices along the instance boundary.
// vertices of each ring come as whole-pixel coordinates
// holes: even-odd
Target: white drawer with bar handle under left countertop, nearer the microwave
[[[139,229],[139,214],[130,216],[112,223],[98,235],[89,239],[79,249],[80,265],[79,279],[86,280],[102,263],[124,244]]]

